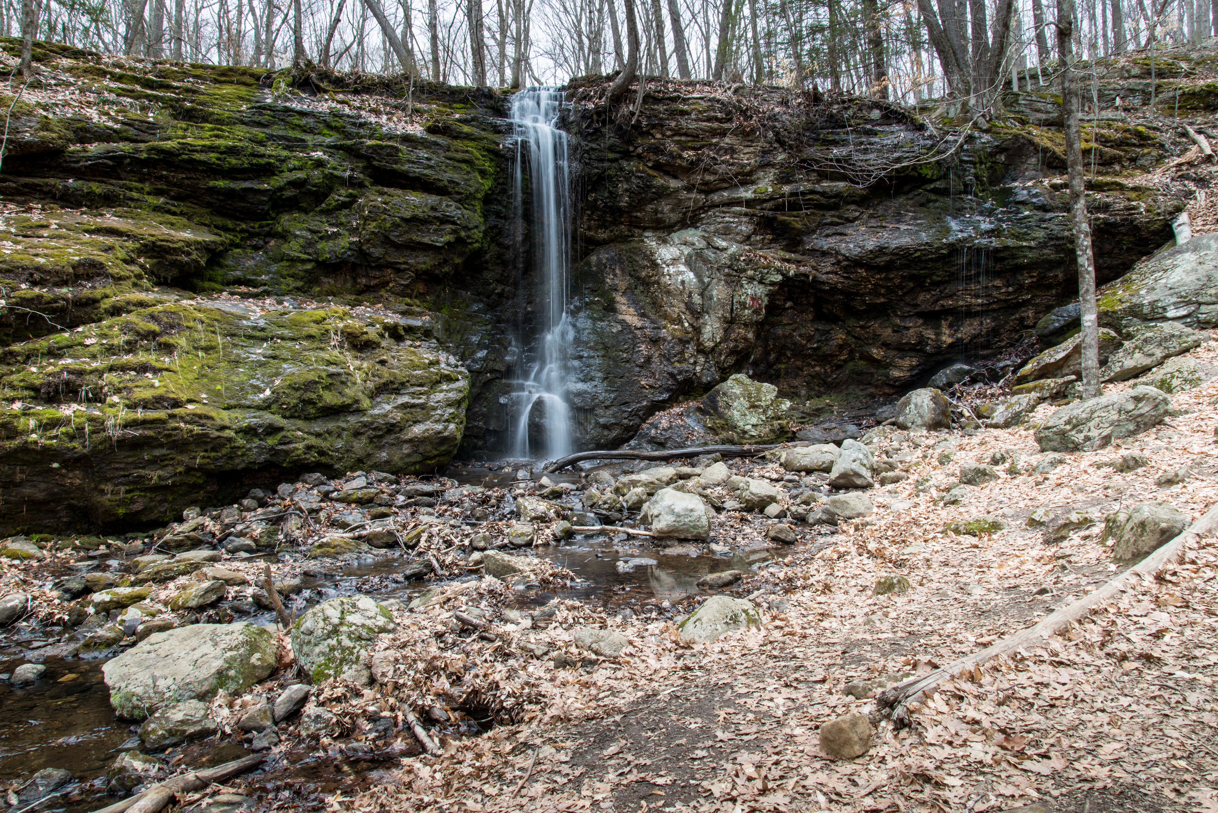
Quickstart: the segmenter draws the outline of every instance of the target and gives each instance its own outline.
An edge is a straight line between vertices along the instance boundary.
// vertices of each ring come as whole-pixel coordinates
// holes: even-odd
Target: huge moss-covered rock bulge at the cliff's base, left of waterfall
[[[10,346],[0,389],[22,408],[0,409],[0,533],[30,515],[48,532],[163,525],[242,471],[434,469],[460,442],[469,375],[424,338],[389,312],[224,298]],[[83,393],[72,431],[29,431]]]

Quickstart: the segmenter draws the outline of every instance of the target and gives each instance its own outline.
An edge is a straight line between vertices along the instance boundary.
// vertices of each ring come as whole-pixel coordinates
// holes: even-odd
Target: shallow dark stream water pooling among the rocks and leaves
[[[503,487],[514,480],[507,471],[473,467],[454,472],[460,484]],[[551,476],[555,482],[575,482],[575,477]],[[685,596],[703,593],[697,581],[725,570],[749,570],[773,559],[773,549],[706,553],[703,545],[657,548],[649,538],[625,533],[574,536],[563,544],[533,549],[537,556],[566,567],[577,577],[569,588],[540,590],[516,588],[510,601],[519,609],[543,605],[555,595],[597,604],[609,611],[632,610],[674,617],[669,610]],[[783,549],[786,555],[789,548]],[[274,555],[274,554],[272,554]],[[410,564],[406,556],[386,551],[373,559],[346,565],[319,564],[304,571],[301,593],[291,599],[297,617],[309,607],[342,595],[364,594],[378,600],[409,602],[412,598],[435,584],[409,581],[400,573]],[[68,570],[123,570],[125,562],[108,560],[78,564]],[[471,578],[469,576],[464,578]],[[253,609],[253,607],[248,607]],[[239,615],[239,621],[255,624],[274,623],[270,611],[257,610]],[[54,628],[48,632],[54,632]],[[68,632],[67,629],[62,632]],[[0,673],[11,673],[17,666],[41,662],[46,674],[37,684],[13,688],[0,683],[0,783],[11,785],[24,780],[43,768],[67,768],[77,784],[66,789],[62,798],[52,798],[32,809],[84,813],[117,801],[106,791],[105,773],[123,751],[140,748],[138,727],[118,721],[110,706],[110,694],[102,682],[105,658],[63,658],[41,654],[39,647],[54,643],[56,635],[38,640],[7,637],[0,644]],[[49,649],[48,652],[54,652]],[[209,767],[245,756],[247,751],[238,740],[205,740],[172,748],[164,755],[172,766]],[[302,796],[319,806],[325,795],[342,787],[345,794],[378,781],[380,772],[392,769],[396,758],[386,761],[351,761],[343,755],[324,758],[311,753],[284,755],[278,764],[253,774],[252,790],[258,795],[274,795],[276,789],[290,787],[298,801]],[[403,756],[403,755],[395,755]],[[256,787],[255,787],[256,786]],[[65,790],[65,789],[61,789]],[[21,809],[13,808],[13,809]]]

